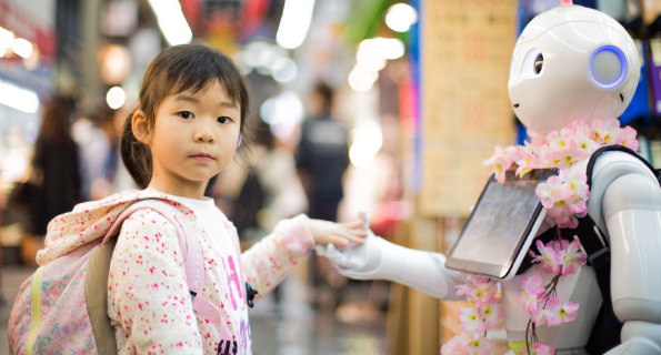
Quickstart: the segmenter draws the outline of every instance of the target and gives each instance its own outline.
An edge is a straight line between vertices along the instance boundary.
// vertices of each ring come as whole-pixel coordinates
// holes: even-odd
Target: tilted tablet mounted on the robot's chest
[[[498,278],[507,275],[542,209],[534,190],[557,172],[531,174],[518,179],[508,172],[504,184],[489,179],[448,255],[448,267]]]

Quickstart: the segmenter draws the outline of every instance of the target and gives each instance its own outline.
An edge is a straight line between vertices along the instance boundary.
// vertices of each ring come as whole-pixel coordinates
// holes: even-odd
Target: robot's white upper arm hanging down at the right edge
[[[602,206],[613,310],[624,322],[622,344],[607,354],[661,354],[661,189],[627,174],[609,185]]]

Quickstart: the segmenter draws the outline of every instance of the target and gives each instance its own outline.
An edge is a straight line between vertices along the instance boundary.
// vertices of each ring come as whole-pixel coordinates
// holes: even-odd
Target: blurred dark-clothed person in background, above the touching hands
[[[349,165],[349,131],[331,115],[333,89],[318,82],[308,99],[308,119],[301,126],[301,140],[296,154],[299,178],[308,195],[308,215],[311,219],[338,220],[338,205],[342,200],[342,178]],[[332,303],[337,306],[341,292],[333,283],[332,298],[321,300],[329,293],[320,290],[322,278],[330,276],[332,267],[326,258],[310,254],[310,282],[313,287],[312,305]]]

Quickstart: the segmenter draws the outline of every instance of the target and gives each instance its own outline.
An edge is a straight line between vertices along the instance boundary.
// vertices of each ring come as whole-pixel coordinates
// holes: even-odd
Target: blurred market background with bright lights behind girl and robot
[[[661,168],[661,0],[574,1],[635,39],[641,81],[620,118]],[[281,219],[370,214],[375,234],[447,252],[494,145],[522,143],[510,57],[559,0],[0,0],[0,328],[46,225],[133,189],[118,131],[164,48],[230,55],[251,91],[251,168],[208,194],[243,248]],[[251,311],[254,354],[439,354],[464,305],[349,281],[310,253]],[[490,332],[494,354],[504,331]],[[0,336],[0,354],[9,354]]]

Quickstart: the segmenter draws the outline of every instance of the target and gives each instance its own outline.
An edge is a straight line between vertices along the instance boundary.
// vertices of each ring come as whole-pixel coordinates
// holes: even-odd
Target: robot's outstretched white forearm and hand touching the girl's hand
[[[331,260],[343,275],[358,280],[388,280],[417,288],[437,298],[458,301],[460,273],[445,268],[440,253],[411,250],[390,243],[373,233],[364,244],[338,250],[332,244],[317,252]]]

